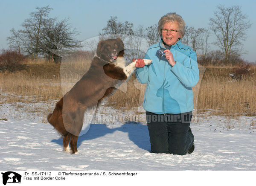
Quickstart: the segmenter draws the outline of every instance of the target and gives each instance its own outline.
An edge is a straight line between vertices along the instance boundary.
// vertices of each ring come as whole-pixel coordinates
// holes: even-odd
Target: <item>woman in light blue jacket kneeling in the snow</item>
[[[159,43],[149,47],[139,59],[136,77],[147,84],[143,107],[146,110],[151,151],[184,155],[194,151],[190,121],[193,91],[199,80],[196,53],[181,43],[185,22],[180,15],[168,13],[158,22]]]

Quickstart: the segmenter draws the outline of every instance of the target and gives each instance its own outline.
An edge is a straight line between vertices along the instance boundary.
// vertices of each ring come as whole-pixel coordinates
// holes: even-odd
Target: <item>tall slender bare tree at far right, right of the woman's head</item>
[[[214,44],[221,48],[226,63],[229,63],[232,55],[239,57],[242,54],[241,41],[247,38],[245,32],[251,23],[248,16],[242,14],[240,6],[225,8],[219,5],[217,9],[209,20],[209,26],[217,37]]]

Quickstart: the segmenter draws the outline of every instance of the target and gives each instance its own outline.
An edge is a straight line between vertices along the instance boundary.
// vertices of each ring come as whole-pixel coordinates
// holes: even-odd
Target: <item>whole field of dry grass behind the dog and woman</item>
[[[90,67],[90,60],[26,61],[26,69],[15,73],[0,72],[0,104],[47,102],[54,106]],[[201,68],[201,82],[194,87],[198,113],[211,110],[212,115],[256,116],[256,67],[240,80],[229,74],[237,67]],[[205,72],[204,72],[205,70]],[[108,99],[106,106],[118,110],[137,110],[143,104],[145,85],[133,75],[127,84]],[[17,107],[19,105],[17,104]],[[44,111],[45,115],[49,110]]]

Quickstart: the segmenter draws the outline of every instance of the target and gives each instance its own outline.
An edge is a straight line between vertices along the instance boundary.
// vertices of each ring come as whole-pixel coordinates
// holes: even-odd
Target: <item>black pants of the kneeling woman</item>
[[[146,112],[151,151],[154,153],[187,154],[194,143],[189,128],[192,111],[180,114]]]

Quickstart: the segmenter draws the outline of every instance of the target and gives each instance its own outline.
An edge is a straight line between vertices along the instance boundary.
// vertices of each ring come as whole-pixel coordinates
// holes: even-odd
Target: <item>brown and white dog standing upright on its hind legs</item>
[[[136,70],[136,61],[125,66],[124,44],[120,38],[100,41],[90,69],[57,102],[48,122],[63,137],[64,151],[77,154],[77,139],[83,126],[84,112],[99,105]],[[151,60],[144,59],[145,65]],[[70,148],[69,148],[70,143]]]

